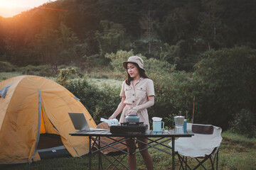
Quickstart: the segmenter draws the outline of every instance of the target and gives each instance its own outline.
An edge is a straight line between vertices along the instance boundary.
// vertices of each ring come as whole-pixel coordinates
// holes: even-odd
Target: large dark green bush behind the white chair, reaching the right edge
[[[195,65],[196,121],[224,130],[243,108],[256,113],[256,50],[210,50]]]

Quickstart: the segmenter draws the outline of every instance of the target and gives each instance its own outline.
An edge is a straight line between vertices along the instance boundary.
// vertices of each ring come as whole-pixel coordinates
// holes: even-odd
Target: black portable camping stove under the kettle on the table
[[[144,122],[137,123],[121,123],[121,125],[112,125],[110,126],[110,132],[120,134],[120,133],[131,133],[138,132],[144,133],[146,132],[147,125],[144,125]]]

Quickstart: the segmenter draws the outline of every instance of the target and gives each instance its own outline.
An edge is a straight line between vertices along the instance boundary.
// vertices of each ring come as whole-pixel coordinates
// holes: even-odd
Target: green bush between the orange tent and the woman
[[[96,123],[100,123],[100,118],[109,118],[121,101],[120,89],[107,85],[98,88],[90,84],[86,77],[70,79],[72,72],[74,69],[60,70],[56,81],[80,99]]]

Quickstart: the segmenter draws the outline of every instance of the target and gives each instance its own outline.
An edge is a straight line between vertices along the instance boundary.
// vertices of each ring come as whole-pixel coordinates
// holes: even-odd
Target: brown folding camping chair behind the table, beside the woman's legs
[[[107,123],[100,123],[99,125],[97,125],[96,128],[100,128],[100,129],[110,129],[109,125]],[[100,137],[100,140],[102,142],[107,143],[108,145],[112,145],[114,142],[118,142],[120,140],[122,140],[123,137]],[[109,166],[107,166],[106,169],[110,169],[111,167],[113,167],[112,169],[119,169],[118,166],[119,164],[122,165],[122,167],[124,167],[124,169],[129,169],[125,164],[122,163],[122,160],[124,159],[124,157],[126,157],[126,154],[124,154],[124,152],[118,150],[121,149],[123,151],[127,151],[127,145],[125,145],[123,142],[118,143],[117,145],[114,145],[114,147],[117,147],[118,149],[114,149],[112,147],[107,147],[107,145],[103,144],[101,142],[100,144],[100,148],[104,148],[100,150],[100,166],[102,168],[102,158],[101,156],[103,156],[105,159],[107,159],[108,162],[110,162]],[[99,142],[94,142],[95,145],[92,145],[95,147],[95,149],[99,149]],[[112,159],[111,159],[112,158]],[[122,169],[123,170],[123,169]]]

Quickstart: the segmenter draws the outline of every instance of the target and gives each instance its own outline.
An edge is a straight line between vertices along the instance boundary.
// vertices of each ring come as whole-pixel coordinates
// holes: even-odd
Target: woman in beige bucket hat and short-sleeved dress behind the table
[[[141,57],[129,57],[127,62],[123,62],[123,66],[127,69],[127,79],[122,83],[122,90],[119,96],[122,97],[117,110],[110,116],[109,119],[114,119],[122,112],[119,123],[124,123],[124,118],[127,114],[136,114],[139,116],[139,121],[148,125],[149,115],[146,108],[154,105],[154,84],[149,77],[146,76],[143,68],[143,60]],[[148,142],[144,137],[138,137],[138,140]],[[138,142],[139,149],[146,146]],[[135,152],[136,147],[134,141],[127,142],[128,152]],[[148,149],[140,152],[146,164],[146,169],[153,169],[153,162]],[[129,169],[137,169],[136,155],[128,155]]]

